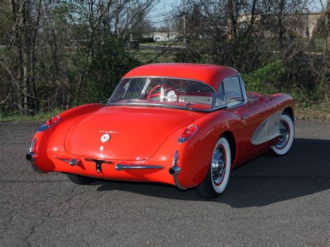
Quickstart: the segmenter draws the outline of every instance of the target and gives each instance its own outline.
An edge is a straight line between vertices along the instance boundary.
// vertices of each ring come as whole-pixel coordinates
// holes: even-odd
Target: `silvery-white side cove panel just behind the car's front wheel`
[[[261,125],[258,126],[251,138],[251,143],[253,145],[265,143],[279,136],[279,125],[282,113],[283,109],[281,109],[281,111],[276,111],[276,113],[270,115],[268,118],[265,119],[265,121],[261,123]]]

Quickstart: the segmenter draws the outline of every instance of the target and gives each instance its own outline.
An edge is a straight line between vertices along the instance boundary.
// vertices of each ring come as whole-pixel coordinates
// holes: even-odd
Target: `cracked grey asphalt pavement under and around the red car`
[[[40,124],[0,124],[0,246],[329,246],[330,125],[297,122],[285,157],[234,170],[226,192],[40,175],[25,160]]]

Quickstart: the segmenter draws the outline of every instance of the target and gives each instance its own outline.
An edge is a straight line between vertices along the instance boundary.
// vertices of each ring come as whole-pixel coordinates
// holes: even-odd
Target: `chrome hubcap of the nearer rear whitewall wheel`
[[[212,157],[212,180],[214,184],[221,184],[226,173],[226,157],[223,147],[218,147]]]

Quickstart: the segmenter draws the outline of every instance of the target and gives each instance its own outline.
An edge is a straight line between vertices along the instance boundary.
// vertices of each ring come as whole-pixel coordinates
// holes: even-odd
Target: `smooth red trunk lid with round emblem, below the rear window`
[[[65,150],[95,159],[146,160],[170,134],[193,121],[189,111],[106,106],[70,127]],[[104,134],[110,138],[102,143]]]

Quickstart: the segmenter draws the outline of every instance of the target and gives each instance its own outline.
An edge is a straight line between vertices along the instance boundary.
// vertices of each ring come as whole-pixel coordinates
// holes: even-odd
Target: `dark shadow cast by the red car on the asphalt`
[[[173,200],[203,200],[194,189],[135,182],[95,182],[97,191],[127,191]],[[210,200],[231,207],[262,207],[330,189],[330,141],[295,139],[284,157],[271,151],[244,164],[230,174],[228,187]]]

